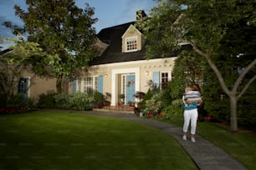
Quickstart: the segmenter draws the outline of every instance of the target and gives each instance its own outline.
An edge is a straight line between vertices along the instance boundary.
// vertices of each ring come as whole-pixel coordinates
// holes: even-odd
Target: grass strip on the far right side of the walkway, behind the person
[[[182,126],[183,117],[176,115],[165,122]],[[223,148],[229,155],[236,158],[248,169],[256,169],[256,135],[248,131],[239,130],[231,133],[229,127],[225,128],[214,122],[197,122],[197,133]]]

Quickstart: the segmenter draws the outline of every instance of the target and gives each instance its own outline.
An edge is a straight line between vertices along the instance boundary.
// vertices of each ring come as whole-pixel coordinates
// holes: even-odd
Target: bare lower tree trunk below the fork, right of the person
[[[230,97],[230,130],[232,133],[238,131],[237,104],[236,97]]]

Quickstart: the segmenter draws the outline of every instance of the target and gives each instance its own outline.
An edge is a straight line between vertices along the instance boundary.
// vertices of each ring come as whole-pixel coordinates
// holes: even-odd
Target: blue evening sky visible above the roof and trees
[[[136,20],[136,11],[143,9],[146,13],[150,12],[151,7],[156,6],[153,0],[75,0],[75,4],[80,8],[85,8],[85,2],[90,7],[95,7],[95,16],[98,22],[94,27],[96,32],[103,28],[109,28],[122,23]],[[12,32],[3,26],[3,22],[11,21],[19,26],[23,22],[15,16],[14,5],[18,5],[26,11],[26,0],[0,0],[0,36],[13,37]]]

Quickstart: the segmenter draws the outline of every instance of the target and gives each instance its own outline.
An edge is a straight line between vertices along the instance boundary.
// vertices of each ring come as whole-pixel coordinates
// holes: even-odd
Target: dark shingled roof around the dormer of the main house
[[[98,33],[100,41],[107,43],[109,46],[99,57],[95,57],[92,65],[116,63],[116,62],[131,62],[145,60],[146,48],[142,47],[141,51],[136,52],[121,52],[122,35],[135,22],[120,24],[111,28],[104,28]],[[182,47],[184,49],[184,47]],[[187,47],[186,47],[187,48]],[[181,50],[183,50],[181,49]],[[179,50],[180,52],[180,50]],[[173,52],[172,57],[176,57],[178,52]]]

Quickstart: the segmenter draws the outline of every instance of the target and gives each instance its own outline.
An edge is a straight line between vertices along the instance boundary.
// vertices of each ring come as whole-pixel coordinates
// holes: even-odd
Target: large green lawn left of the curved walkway
[[[186,165],[186,166],[184,166]],[[156,128],[68,112],[0,115],[0,169],[197,169]]]

